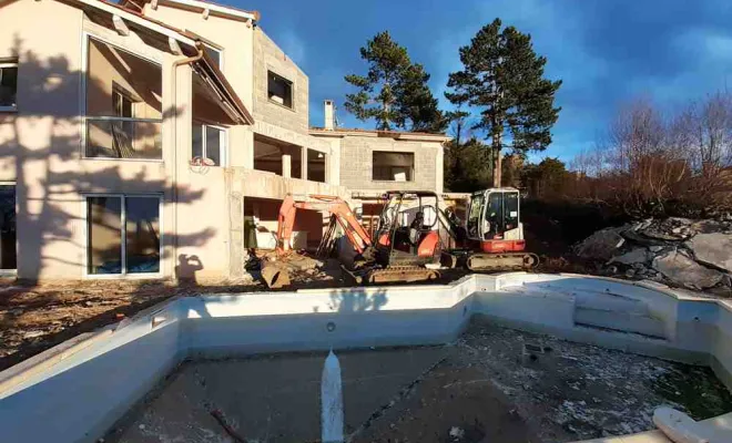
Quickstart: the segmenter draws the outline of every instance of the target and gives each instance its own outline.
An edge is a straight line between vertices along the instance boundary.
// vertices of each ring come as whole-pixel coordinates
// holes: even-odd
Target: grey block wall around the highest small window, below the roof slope
[[[267,96],[267,71],[293,85],[293,109],[272,102]],[[254,32],[254,105],[255,121],[308,133],[308,79],[262,29]]]

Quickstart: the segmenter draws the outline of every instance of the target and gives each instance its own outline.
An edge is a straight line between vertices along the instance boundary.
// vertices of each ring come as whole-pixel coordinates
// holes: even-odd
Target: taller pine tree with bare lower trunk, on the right
[[[501,185],[501,150],[543,151],[551,143],[551,127],[560,107],[553,107],[561,81],[543,78],[547,59],[533,51],[531,37],[514,27],[501,30],[494,20],[460,48],[464,69],[450,74],[446,96],[454,104],[479,109],[474,128],[490,138],[494,186]],[[510,144],[505,144],[506,133]]]

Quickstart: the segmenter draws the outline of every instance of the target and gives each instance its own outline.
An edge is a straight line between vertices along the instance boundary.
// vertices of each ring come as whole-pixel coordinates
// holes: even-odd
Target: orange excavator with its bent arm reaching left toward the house
[[[434,195],[434,194],[433,194]],[[308,202],[296,202],[287,195],[277,216],[277,246],[274,256],[262,265],[262,277],[271,288],[278,288],[289,282],[288,261],[294,259],[292,236],[297,209],[327,212],[331,225],[318,247],[319,255],[332,250],[335,226],[344,233],[353,246],[356,257],[353,264],[342,266],[353,280],[360,284],[389,281],[420,281],[439,277],[437,269],[429,269],[429,264],[439,261],[439,236],[431,229],[437,223],[430,218],[426,224],[423,198],[417,196],[417,205],[405,205],[405,193],[387,193],[374,243],[372,236],[356,218],[348,204],[339,197],[311,195]],[[413,196],[409,196],[413,197]],[[434,213],[433,207],[433,214]]]

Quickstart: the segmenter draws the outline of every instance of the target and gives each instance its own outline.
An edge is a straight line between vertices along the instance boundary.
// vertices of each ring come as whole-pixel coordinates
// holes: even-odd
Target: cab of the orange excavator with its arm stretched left
[[[429,192],[390,190],[375,233],[377,261],[383,266],[424,266],[440,254],[438,197]]]

